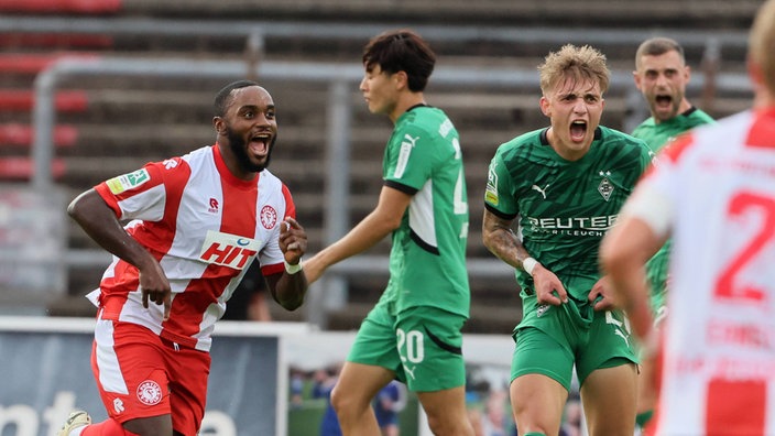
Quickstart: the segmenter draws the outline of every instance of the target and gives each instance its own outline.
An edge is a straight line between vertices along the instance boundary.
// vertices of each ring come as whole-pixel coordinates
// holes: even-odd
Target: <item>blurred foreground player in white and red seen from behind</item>
[[[657,359],[658,435],[775,435],[775,0],[749,40],[754,107],[679,137],[607,235],[602,266]],[[673,238],[653,333],[646,260]]]

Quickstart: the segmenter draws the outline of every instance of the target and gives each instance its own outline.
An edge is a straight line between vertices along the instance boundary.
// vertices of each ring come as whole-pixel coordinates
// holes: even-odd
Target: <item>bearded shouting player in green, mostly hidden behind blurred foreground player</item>
[[[635,86],[643,94],[651,117],[633,130],[632,135],[646,141],[658,152],[673,138],[697,126],[714,122],[706,112],[689,102],[686,86],[691,79],[691,70],[686,65],[684,47],[669,37],[652,37],[644,41],[635,53],[635,70],[632,73]],[[652,284],[652,307],[655,323],[666,315],[665,292],[667,291],[668,253],[670,242],[646,263],[646,276]],[[643,362],[642,364],[646,364]],[[643,368],[643,372],[648,372]],[[644,426],[656,405],[656,393],[650,383],[638,378],[637,424]]]

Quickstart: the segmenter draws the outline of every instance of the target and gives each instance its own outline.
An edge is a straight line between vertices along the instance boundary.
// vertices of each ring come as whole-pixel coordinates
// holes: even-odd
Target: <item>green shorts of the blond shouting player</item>
[[[514,329],[511,380],[544,374],[570,390],[574,367],[579,382],[603,368],[637,363],[629,321],[619,310],[592,312],[572,299],[544,308],[539,318]]]

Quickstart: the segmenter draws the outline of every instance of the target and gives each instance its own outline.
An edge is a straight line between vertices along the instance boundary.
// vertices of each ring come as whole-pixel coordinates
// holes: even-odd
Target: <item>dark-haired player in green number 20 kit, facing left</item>
[[[468,203],[458,132],[423,90],[435,55],[419,35],[388,32],[365,46],[360,89],[394,124],[375,209],[305,263],[307,280],[392,233],[390,281],[361,324],[331,402],[345,435],[379,435],[371,400],[397,378],[417,393],[434,434],[470,436],[461,353],[470,293]]]

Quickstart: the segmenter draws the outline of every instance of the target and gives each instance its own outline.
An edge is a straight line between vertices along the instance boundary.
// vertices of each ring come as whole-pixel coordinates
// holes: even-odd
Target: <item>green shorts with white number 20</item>
[[[349,362],[383,367],[414,392],[466,384],[462,333],[466,317],[436,307],[412,307],[392,315],[378,304],[363,319]]]

